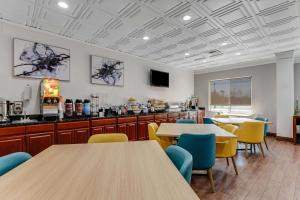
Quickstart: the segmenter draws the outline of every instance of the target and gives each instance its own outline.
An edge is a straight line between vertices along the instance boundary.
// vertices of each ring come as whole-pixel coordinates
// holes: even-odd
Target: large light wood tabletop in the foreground
[[[0,177],[1,200],[199,200],[156,141],[54,145]]]

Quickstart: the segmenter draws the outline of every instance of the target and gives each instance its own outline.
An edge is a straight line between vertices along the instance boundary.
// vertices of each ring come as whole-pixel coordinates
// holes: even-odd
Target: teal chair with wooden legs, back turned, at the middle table
[[[215,192],[212,167],[215,165],[216,159],[216,136],[214,134],[183,133],[179,137],[178,146],[192,154],[193,170],[207,170],[212,190]]]

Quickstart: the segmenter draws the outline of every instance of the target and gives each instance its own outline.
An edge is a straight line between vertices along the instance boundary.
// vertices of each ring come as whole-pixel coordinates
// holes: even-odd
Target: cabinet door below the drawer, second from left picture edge
[[[27,152],[34,156],[53,144],[54,132],[37,133],[26,136]]]

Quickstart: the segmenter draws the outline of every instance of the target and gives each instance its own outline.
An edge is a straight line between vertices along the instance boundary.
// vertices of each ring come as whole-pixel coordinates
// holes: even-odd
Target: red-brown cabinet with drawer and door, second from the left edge
[[[26,126],[26,151],[34,156],[54,144],[54,124]]]

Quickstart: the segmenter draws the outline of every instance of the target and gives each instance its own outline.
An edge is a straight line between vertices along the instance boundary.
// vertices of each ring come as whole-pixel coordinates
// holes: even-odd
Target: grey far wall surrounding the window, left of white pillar
[[[252,76],[253,112],[266,116],[273,122],[271,132],[276,132],[276,65],[232,69],[195,75],[195,95],[200,104],[208,108],[208,82],[214,79]]]

